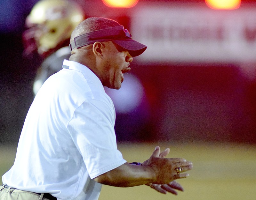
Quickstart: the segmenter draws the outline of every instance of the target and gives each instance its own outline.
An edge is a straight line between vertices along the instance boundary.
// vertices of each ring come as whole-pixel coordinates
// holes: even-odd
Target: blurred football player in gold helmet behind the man
[[[84,20],[80,5],[68,0],[40,0],[26,18],[23,33],[24,56],[34,53],[43,59],[33,84],[36,95],[44,81],[59,71],[69,58],[69,39],[74,28]]]

